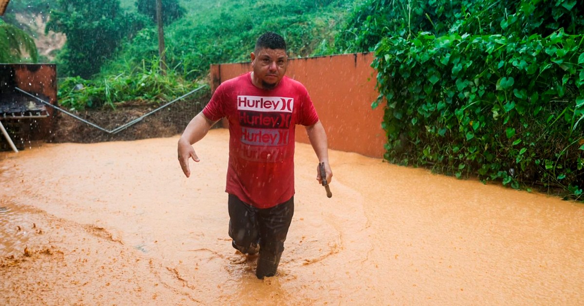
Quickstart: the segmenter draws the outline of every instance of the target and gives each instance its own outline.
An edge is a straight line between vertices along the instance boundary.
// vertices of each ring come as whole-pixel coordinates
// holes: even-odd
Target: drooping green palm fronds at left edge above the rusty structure
[[[22,62],[25,54],[31,61],[37,61],[39,53],[33,38],[18,27],[0,20],[0,62]]]

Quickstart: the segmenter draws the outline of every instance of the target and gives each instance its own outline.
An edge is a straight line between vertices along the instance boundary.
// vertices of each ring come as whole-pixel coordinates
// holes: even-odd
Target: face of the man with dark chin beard
[[[286,73],[288,55],[283,49],[260,49],[252,52],[253,84],[263,89],[273,89]]]

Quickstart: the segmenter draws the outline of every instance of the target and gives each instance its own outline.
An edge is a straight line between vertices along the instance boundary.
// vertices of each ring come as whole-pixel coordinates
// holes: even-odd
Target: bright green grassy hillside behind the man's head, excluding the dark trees
[[[168,65],[185,78],[196,79],[218,62],[246,61],[255,39],[264,31],[280,33],[291,57],[330,54],[347,13],[359,1],[182,1],[185,16],[165,27]],[[154,24],[124,44],[106,67],[158,55]]]

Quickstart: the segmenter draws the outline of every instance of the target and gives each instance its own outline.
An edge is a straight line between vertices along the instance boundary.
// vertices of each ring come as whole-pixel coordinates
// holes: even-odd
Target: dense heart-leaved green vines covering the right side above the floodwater
[[[364,22],[353,29],[363,36],[343,46],[376,52],[380,99],[373,106],[385,107],[386,159],[582,195],[581,2],[370,4],[382,2],[394,6],[355,14]],[[372,45],[376,37],[383,38]]]

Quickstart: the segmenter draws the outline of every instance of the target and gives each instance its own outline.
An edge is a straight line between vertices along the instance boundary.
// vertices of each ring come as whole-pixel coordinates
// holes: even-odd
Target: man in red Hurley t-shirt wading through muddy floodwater
[[[251,53],[252,72],[222,83],[207,106],[187,125],[178,142],[186,177],[189,158],[199,161],[193,143],[226,117],[229,121],[227,168],[229,235],[243,254],[257,254],[256,276],[274,276],[294,214],[294,131],[304,125],[326,181],[331,182],[326,133],[306,88],[284,76],[286,42],[263,34]],[[317,167],[317,180],[322,181]]]

